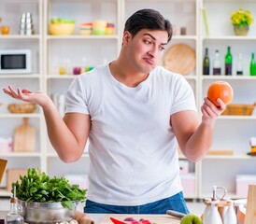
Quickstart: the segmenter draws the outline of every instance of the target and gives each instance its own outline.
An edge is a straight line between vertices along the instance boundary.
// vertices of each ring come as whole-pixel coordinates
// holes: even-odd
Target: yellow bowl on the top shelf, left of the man
[[[50,35],[73,35],[75,32],[74,23],[50,23]]]

